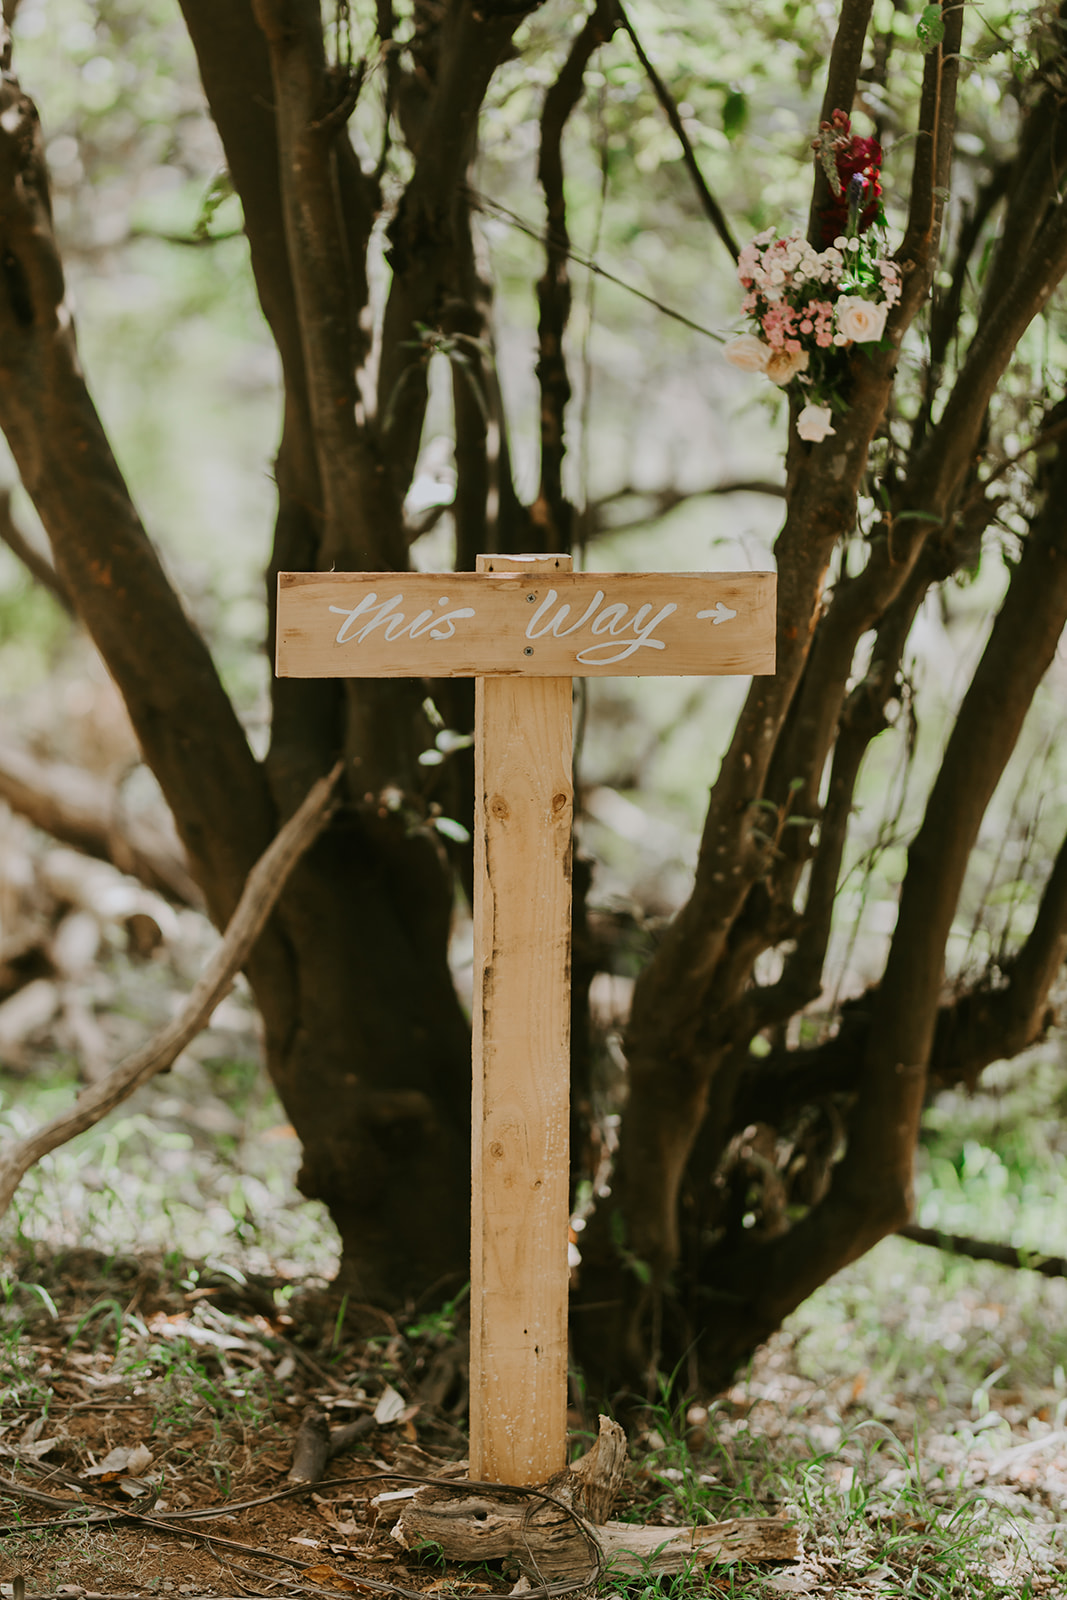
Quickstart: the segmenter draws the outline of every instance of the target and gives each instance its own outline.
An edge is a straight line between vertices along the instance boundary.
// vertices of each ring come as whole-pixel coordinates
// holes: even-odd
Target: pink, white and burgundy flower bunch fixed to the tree
[[[830,186],[830,203],[819,213],[824,248],[800,234],[777,238],[774,227],[745,245],[737,278],[755,331],[731,339],[723,354],[781,387],[797,382],[805,398],[797,432],[819,443],[835,432],[833,410],[845,410],[841,354],[881,339],[901,298],[901,274],[881,253],[878,141],[853,134],[849,118],[835,110],[819,125],[813,149]]]

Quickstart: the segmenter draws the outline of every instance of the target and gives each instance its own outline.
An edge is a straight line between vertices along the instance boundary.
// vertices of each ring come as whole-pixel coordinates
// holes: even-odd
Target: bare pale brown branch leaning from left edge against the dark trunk
[[[67,1144],[78,1133],[93,1128],[107,1112],[141,1088],[158,1072],[165,1072],[182,1050],[206,1027],[211,1013],[227,992],[234,974],[245,965],[285,883],[306,850],[330,819],[331,795],[342,766],[320,778],[302,806],[267,846],[248,874],[248,882],[214,955],[178,1016],[162,1027],[141,1050],[122,1061],[101,1083],[93,1083],[69,1112],[54,1117],[34,1133],[16,1139],[0,1154],[0,1216],[8,1210],[14,1190],[26,1173],[50,1150]]]

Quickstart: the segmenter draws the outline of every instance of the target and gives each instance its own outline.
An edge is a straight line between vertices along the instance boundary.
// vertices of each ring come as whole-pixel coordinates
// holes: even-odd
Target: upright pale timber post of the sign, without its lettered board
[[[569,677],[478,678],[470,1477],[494,1483],[566,1459],[571,813]]]

